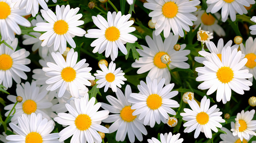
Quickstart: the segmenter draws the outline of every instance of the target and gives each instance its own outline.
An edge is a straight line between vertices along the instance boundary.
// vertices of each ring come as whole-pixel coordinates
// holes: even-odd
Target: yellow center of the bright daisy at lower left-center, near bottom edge
[[[86,114],[80,114],[75,118],[75,126],[77,129],[84,131],[92,125],[91,118]]]

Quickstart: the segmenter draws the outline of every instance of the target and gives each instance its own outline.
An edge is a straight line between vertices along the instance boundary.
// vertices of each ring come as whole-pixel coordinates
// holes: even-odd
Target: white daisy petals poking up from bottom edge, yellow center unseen
[[[177,135],[172,135],[172,132],[169,132],[169,134],[167,135],[167,133],[160,134],[160,141],[158,139],[156,139],[155,137],[152,137],[152,139],[148,139],[149,143],[182,143],[183,142],[183,138],[180,138],[180,133],[178,133]]]

